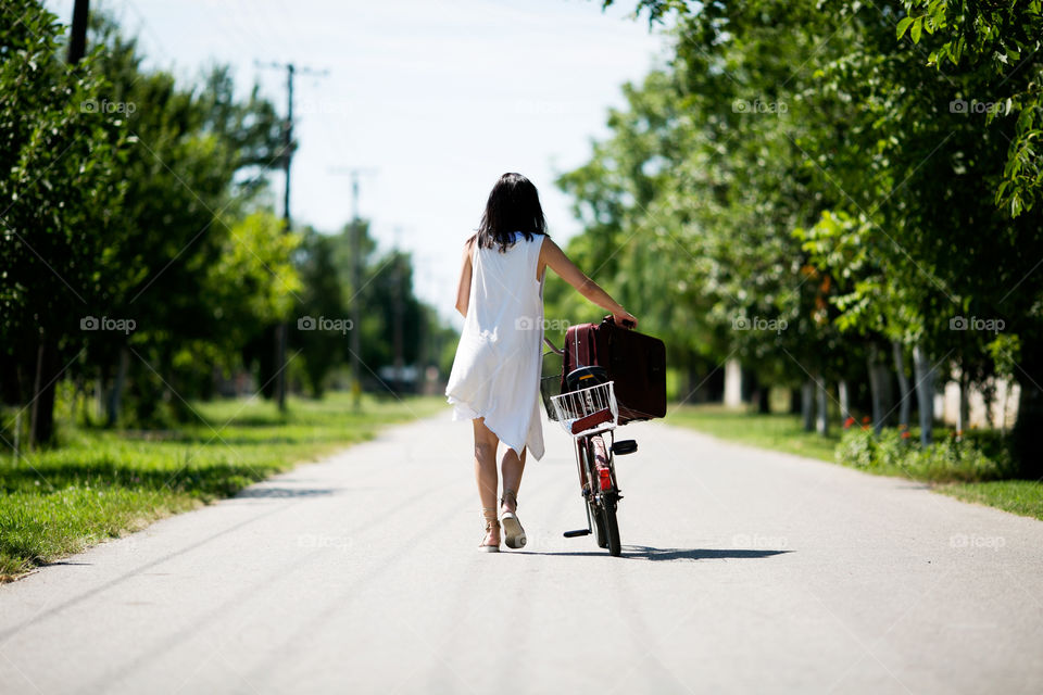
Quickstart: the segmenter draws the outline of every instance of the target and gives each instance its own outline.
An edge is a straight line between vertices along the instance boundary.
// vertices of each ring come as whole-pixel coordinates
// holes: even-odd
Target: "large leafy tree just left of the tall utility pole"
[[[99,70],[110,76],[109,99],[125,105],[122,132],[128,139],[120,241],[104,255],[97,311],[133,320],[137,330],[93,334],[88,354],[111,384],[110,424],[124,383],[135,399],[133,418],[159,417],[155,404],[164,400],[174,415],[187,417],[186,400],[209,392],[212,369],[227,366],[263,321],[282,317],[266,314],[262,321],[240,311],[244,303],[284,314],[290,307],[294,286],[288,277],[234,288],[215,288],[214,280],[227,266],[243,279],[273,271],[276,261],[264,256],[268,244],[280,242],[269,220],[249,216],[266,167],[277,163],[280,122],[256,87],[237,100],[226,67],[214,67],[199,87],[180,87],[166,73],[143,71],[136,40],[104,15],[96,15],[92,37],[104,47]],[[243,218],[246,226],[237,226]],[[272,288],[281,302],[272,301]],[[255,295],[244,296],[247,289]],[[240,342],[233,345],[230,337]]]

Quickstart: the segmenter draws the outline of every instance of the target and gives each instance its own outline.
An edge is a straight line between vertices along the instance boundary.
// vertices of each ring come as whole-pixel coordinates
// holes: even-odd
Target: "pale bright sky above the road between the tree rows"
[[[73,0],[48,0],[63,22]],[[382,249],[413,253],[414,289],[453,323],[464,240],[505,172],[539,188],[551,235],[580,230],[556,175],[588,161],[607,134],[620,87],[663,61],[666,38],[637,0],[106,0],[139,37],[146,67],[188,85],[209,66],[233,66],[285,114],[294,63],[291,173],[294,224],[338,231],[359,213]],[[139,106],[140,108],[140,106]],[[282,177],[272,176],[281,214]]]

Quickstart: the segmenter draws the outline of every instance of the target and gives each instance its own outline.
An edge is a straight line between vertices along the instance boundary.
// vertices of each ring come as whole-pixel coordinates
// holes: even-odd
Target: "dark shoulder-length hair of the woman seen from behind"
[[[504,174],[489,192],[486,212],[478,225],[478,245],[500,247],[503,253],[513,243],[512,232],[520,231],[526,241],[532,235],[546,233],[546,218],[540,206],[540,193],[532,181],[520,174]]]

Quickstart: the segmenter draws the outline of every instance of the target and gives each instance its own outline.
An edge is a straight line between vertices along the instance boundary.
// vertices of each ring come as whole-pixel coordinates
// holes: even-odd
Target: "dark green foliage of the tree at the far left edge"
[[[78,343],[68,333],[99,296],[99,262],[115,240],[121,162],[109,143],[122,141],[123,122],[97,109],[106,93],[97,51],[67,65],[53,14],[32,0],[0,13],[0,351],[10,364],[42,341]]]

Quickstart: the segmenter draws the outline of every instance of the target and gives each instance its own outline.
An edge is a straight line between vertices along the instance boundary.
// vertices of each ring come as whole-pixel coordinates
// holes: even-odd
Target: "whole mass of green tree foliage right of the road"
[[[738,356],[758,382],[864,381],[874,350],[918,346],[941,379],[1015,375],[1031,444],[1043,217],[1027,204],[1039,109],[1022,106],[1040,84],[1038,5],[639,3],[674,12],[674,56],[562,177],[590,237],[570,251],[611,258],[610,286],[642,279],[629,307],[674,364]],[[929,66],[946,46],[964,60]],[[1028,159],[1011,165],[1011,142]],[[1017,202],[997,206],[997,191]],[[787,328],[747,329],[758,318]],[[971,318],[1003,328],[959,328]]]

